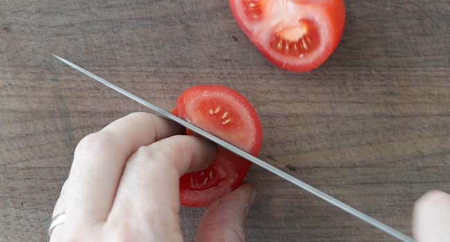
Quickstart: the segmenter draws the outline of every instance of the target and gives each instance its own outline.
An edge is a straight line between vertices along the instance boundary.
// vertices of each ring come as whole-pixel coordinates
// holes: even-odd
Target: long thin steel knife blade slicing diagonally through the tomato
[[[214,136],[211,133],[208,133],[204,129],[201,129],[200,127],[197,127],[195,124],[192,124],[186,120],[183,120],[182,118],[177,117],[176,115],[173,115],[172,113],[165,111],[159,106],[156,106],[150,102],[147,102],[146,100],[143,100],[141,97],[138,97],[134,95],[133,93],[130,93],[129,91],[126,91],[125,89],[120,88],[119,86],[116,86],[115,84],[112,84],[111,82],[108,82],[107,80],[103,79],[102,77],[99,77],[98,75],[95,75],[89,71],[87,71],[84,68],[81,68],[80,66],[77,66],[76,64],[73,64],[72,62],[69,62],[66,59],[63,59],[62,57],[59,57],[57,55],[53,55],[56,59],[59,59],[64,64],[71,66],[72,68],[75,68],[75,70],[80,71],[84,75],[87,75],[88,77],[91,77],[93,80],[96,80],[97,82],[100,82],[101,84],[104,84],[105,86],[109,87],[110,89],[113,89],[114,91],[117,91],[118,93],[125,95],[126,97],[129,97],[130,99],[134,100],[135,102],[138,102],[144,106],[147,106],[147,108],[152,109],[156,114],[161,115],[163,118],[167,118],[169,120],[172,120],[174,122],[177,122],[183,127],[186,127],[187,129],[190,129],[194,131],[195,133],[198,133],[200,136],[214,142],[215,144],[224,147],[225,149],[228,149],[228,151],[231,151],[235,153],[237,156],[241,156],[242,158],[245,158],[246,160],[249,160],[253,162],[255,165],[258,165],[267,171],[270,171],[273,174],[276,174],[277,176],[280,176],[281,178],[289,181],[290,183],[293,183],[297,187],[300,187],[302,189],[305,189],[307,192],[314,194],[315,196],[318,196],[319,198],[322,198],[323,200],[327,201],[328,203],[331,203],[332,205],[339,207],[341,210],[344,210],[345,212],[348,212],[349,214],[352,214],[353,216],[356,216],[357,218],[360,218],[361,220],[365,221],[366,223],[369,223],[370,225],[373,225],[379,230],[382,230],[395,238],[399,239],[400,241],[404,242],[413,242],[414,240],[411,239],[411,237],[406,236],[405,234],[402,234],[401,232],[393,229],[392,227],[389,227],[388,225],[381,223],[380,221],[377,221],[375,218],[372,218],[366,214],[363,214],[359,210],[354,209],[353,207],[350,207],[350,205],[347,205],[338,199],[325,194],[325,192],[322,192],[319,189],[316,189],[315,187],[312,187],[311,185],[308,185],[307,183],[304,183],[303,181],[299,180],[298,178],[291,176],[287,174],[285,171],[282,171],[273,165],[270,165],[269,163],[265,162],[264,160],[261,160],[260,158],[257,158],[250,153],[247,153],[246,151],[235,147],[235,145],[232,145],[225,140],[222,140],[222,138],[219,138],[217,136]]]

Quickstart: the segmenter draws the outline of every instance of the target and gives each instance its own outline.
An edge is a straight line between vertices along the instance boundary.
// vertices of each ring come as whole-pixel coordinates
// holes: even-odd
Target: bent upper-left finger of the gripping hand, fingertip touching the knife
[[[183,129],[149,113],[132,113],[83,138],[75,149],[66,189],[65,225],[84,226],[105,221],[126,160],[150,145]]]

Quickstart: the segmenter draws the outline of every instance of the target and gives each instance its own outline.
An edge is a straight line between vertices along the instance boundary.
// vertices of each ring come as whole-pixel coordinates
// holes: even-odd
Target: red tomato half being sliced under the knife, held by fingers
[[[173,113],[254,156],[260,151],[260,118],[250,102],[233,89],[218,85],[194,86],[181,93]],[[219,147],[217,158],[209,167],[180,178],[181,204],[210,205],[239,187],[250,167],[251,162]]]

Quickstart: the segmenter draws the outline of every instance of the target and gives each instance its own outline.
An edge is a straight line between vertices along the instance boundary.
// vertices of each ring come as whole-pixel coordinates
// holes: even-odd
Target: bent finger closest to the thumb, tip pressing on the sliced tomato
[[[212,142],[194,136],[141,147],[127,162],[107,225],[127,223],[148,241],[181,241],[179,178],[206,168],[216,155]]]

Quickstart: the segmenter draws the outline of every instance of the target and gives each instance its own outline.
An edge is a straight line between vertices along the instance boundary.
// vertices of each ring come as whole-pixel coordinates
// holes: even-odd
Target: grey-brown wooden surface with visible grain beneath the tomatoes
[[[83,136],[145,111],[51,57],[166,109],[195,84],[244,93],[261,158],[411,235],[414,201],[450,192],[450,3],[345,1],[334,55],[311,73],[273,66],[228,1],[0,1],[0,241],[45,241]],[[253,167],[249,241],[395,241]],[[186,241],[202,209],[183,208]]]

